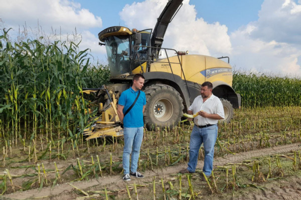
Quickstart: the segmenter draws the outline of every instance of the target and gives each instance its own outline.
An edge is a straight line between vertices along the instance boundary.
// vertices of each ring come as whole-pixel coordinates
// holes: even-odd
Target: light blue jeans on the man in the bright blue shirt
[[[142,127],[124,127],[124,147],[122,154],[123,173],[129,173],[129,155],[131,153],[130,171],[137,171],[137,163],[140,154],[140,147],[143,139]]]

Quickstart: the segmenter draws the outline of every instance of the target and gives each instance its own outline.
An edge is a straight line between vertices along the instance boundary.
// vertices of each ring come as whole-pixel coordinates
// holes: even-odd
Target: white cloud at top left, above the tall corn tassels
[[[71,32],[90,27],[101,27],[102,20],[79,3],[69,0],[3,0],[0,6],[2,20],[7,25],[37,27],[39,24],[47,31],[53,29]]]

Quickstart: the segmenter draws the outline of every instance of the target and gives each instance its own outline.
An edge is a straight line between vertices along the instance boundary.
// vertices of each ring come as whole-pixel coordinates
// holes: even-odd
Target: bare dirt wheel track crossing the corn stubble
[[[214,165],[224,165],[229,162],[231,163],[237,163],[241,162],[245,159],[249,159],[251,157],[257,157],[257,156],[263,156],[263,155],[269,155],[269,154],[276,154],[276,153],[285,153],[293,150],[299,150],[301,149],[301,142],[292,143],[292,144],[286,144],[286,145],[278,145],[273,146],[270,148],[261,148],[241,153],[235,153],[235,154],[228,154],[223,157],[215,157]],[[198,168],[201,168],[203,166],[203,161],[199,161]],[[187,163],[180,164],[177,166],[170,166],[165,167],[162,169],[156,169],[154,171],[147,170],[143,172],[145,178],[143,179],[135,179],[135,182],[137,184],[143,183],[143,182],[152,182],[154,176],[160,176],[163,178],[169,177],[171,174],[178,173],[179,170],[182,168],[187,167]],[[127,182],[132,183],[133,181]],[[289,196],[291,196],[291,199],[300,199],[301,198],[301,182],[300,180],[296,180],[296,184],[291,185],[289,188],[283,187],[288,195],[287,198],[281,198],[281,199],[290,199]],[[87,191],[87,190],[101,190],[104,187],[109,189],[124,189],[126,183],[122,180],[121,174],[118,175],[112,175],[112,176],[106,176],[106,177],[99,177],[98,180],[96,178],[93,178],[89,181],[77,181],[72,182],[72,185]],[[41,191],[38,191],[38,189],[31,189],[26,191],[17,191],[11,194],[0,196],[0,199],[34,199],[34,198],[43,198],[43,199],[75,199],[78,197],[78,194],[74,192],[75,188],[72,187],[68,183],[62,183],[59,185],[51,187],[44,187],[41,189]],[[275,190],[275,189],[274,189]],[[279,194],[276,192],[271,192],[270,194],[263,194],[263,198],[260,199],[279,199],[276,197],[279,197]],[[247,195],[247,194],[246,194]],[[266,197],[265,197],[266,196]],[[281,195],[280,195],[281,196]],[[259,199],[254,198],[254,194],[250,193],[248,196],[241,196],[240,199]]]

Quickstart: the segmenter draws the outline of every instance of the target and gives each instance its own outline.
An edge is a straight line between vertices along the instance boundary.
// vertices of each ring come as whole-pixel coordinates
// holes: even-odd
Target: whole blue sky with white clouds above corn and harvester
[[[0,28],[26,23],[51,39],[75,32],[80,47],[106,62],[97,33],[113,25],[153,28],[168,0],[0,0]],[[39,26],[38,26],[39,22]],[[229,56],[236,70],[301,76],[301,0],[184,0],[169,25],[164,47],[191,54]],[[30,28],[29,28],[30,27]],[[38,28],[39,27],[39,28]],[[57,34],[53,34],[53,30]]]

